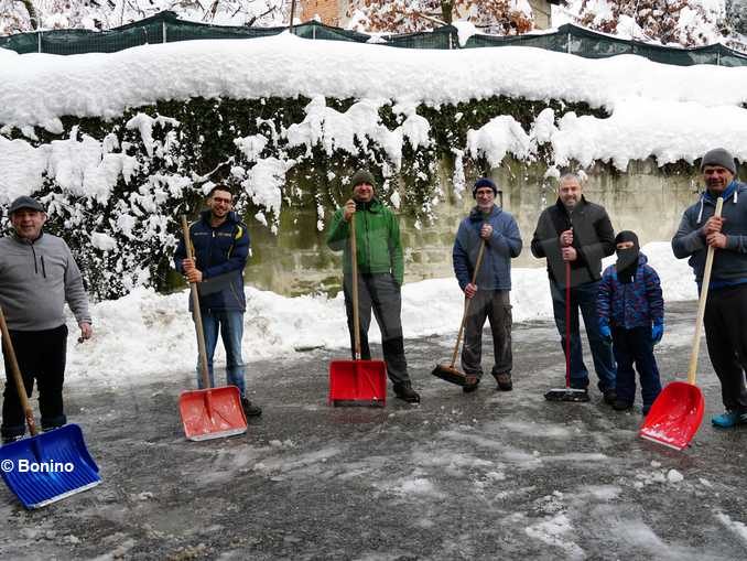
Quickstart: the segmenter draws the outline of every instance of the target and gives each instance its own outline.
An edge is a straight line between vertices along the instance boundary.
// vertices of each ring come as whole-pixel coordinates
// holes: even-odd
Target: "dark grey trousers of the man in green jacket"
[[[353,327],[351,276],[345,276],[345,311],[347,327],[350,332],[350,349],[355,359],[355,339]],[[360,317],[360,358],[370,360],[368,327],[371,324],[371,310],[381,331],[381,346],[387,373],[393,384],[409,381],[408,363],[404,359],[404,339],[402,337],[402,296],[400,287],[390,273],[358,274],[358,314]]]

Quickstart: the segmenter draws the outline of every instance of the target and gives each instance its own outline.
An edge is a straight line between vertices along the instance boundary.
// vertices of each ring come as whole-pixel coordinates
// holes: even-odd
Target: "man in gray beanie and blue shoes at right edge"
[[[678,259],[690,258],[700,292],[707,248],[716,249],[703,323],[726,409],[711,422],[729,428],[747,424],[747,185],[736,181],[734,157],[723,148],[705,153],[701,172],[706,191],[685,209],[672,250]],[[724,207],[715,217],[718,197]]]

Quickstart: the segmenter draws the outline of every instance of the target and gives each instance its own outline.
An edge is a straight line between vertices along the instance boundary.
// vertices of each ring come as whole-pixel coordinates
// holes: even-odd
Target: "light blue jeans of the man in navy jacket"
[[[239,388],[241,397],[246,396],[243,368],[247,366],[241,358],[241,338],[243,337],[243,312],[226,311],[212,312],[201,310],[203,315],[203,332],[205,333],[205,353],[207,355],[207,371],[210,377],[210,387],[215,387],[213,375],[213,355],[218,344],[218,331],[223,346],[226,349],[226,381],[229,386]],[[197,387],[204,389],[202,366],[197,359]]]

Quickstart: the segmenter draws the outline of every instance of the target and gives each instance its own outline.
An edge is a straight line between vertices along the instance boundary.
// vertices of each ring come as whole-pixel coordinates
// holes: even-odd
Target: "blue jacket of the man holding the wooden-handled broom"
[[[521,252],[521,234],[513,216],[498,206],[488,216],[475,207],[459,224],[452,251],[454,274],[462,290],[472,282],[486,222],[492,226],[492,236],[486,242],[476,284],[481,290],[511,290],[511,258]]]

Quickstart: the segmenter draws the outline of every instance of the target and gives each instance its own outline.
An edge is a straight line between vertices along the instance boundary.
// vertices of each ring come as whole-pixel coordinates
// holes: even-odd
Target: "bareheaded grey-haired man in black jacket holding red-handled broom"
[[[532,238],[532,255],[548,259],[548,276],[552,294],[555,325],[565,350],[565,288],[571,285],[571,387],[586,389],[588,370],[584,365],[578,310],[584,316],[586,335],[592,347],[597,387],[607,403],[615,402],[615,357],[609,341],[599,334],[596,300],[602,278],[602,259],[615,251],[615,233],[600,205],[584,198],[576,174],[563,175],[557,185],[557,202],[545,208]],[[571,266],[566,279],[565,267]],[[567,358],[567,357],[566,357]],[[588,400],[584,395],[583,400]]]

